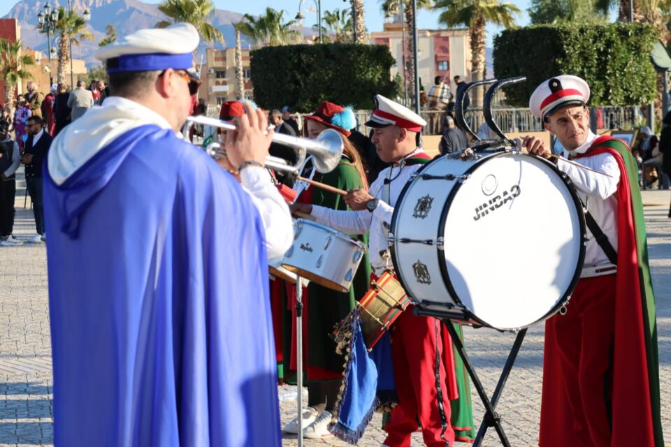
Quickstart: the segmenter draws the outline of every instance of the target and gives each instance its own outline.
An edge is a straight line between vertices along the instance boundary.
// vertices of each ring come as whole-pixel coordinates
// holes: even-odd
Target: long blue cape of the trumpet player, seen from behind
[[[44,163],[56,446],[280,446],[265,233],[231,175],[140,126]]]

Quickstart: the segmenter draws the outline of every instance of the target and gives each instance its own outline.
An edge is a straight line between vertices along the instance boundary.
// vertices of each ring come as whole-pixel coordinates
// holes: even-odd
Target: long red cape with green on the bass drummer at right
[[[635,161],[628,147],[615,138],[597,138],[586,154],[608,153],[620,168],[617,189],[617,274],[613,355],[611,446],[663,446],[659,413],[659,374],[654,295],[649,284],[645,226]],[[637,175],[637,168],[636,168]],[[635,207],[634,205],[637,205]],[[558,362],[556,333],[545,326],[543,394],[539,445],[577,446],[563,376]]]

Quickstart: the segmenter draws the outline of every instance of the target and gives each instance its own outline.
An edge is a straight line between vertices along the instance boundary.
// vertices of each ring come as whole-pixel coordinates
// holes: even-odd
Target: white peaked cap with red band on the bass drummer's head
[[[574,75],[561,75],[542,82],[529,98],[535,117],[544,119],[567,105],[584,105],[589,101],[589,85]]]

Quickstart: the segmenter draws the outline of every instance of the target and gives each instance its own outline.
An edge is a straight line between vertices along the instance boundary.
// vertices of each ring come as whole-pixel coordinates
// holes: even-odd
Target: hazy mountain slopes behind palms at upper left
[[[47,36],[41,34],[35,27],[37,15],[44,8],[44,0],[21,0],[9,11],[4,18],[15,18],[21,27],[21,41],[26,47],[34,50],[47,51]],[[124,36],[142,28],[154,27],[157,22],[166,20],[159,11],[157,4],[143,3],[138,0],[72,0],[72,8],[83,13],[87,7],[91,11],[89,31],[93,34],[92,41],[81,41],[80,45],[73,45],[72,52],[75,59],[84,59],[87,65],[96,65],[99,62],[93,57],[98,49],[98,43],[106,36],[108,24],[114,25],[117,35]],[[51,6],[68,7],[66,0],[52,0]],[[243,15],[227,10],[215,10],[210,17],[211,23],[224,34],[225,44],[217,43],[215,47],[233,46],[236,43],[236,34],[233,23],[239,22]],[[308,33],[309,34],[309,33]],[[53,39],[52,35],[52,39]],[[251,45],[247,36],[242,36],[243,47]],[[55,44],[52,41],[52,46]],[[205,48],[205,44],[201,44]],[[201,49],[199,49],[201,50]]]

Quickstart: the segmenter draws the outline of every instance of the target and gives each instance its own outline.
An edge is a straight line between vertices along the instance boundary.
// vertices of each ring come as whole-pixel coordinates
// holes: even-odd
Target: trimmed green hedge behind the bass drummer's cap
[[[494,38],[496,78],[524,75],[505,89],[507,102],[528,107],[531,93],[556,75],[589,83],[590,105],[642,105],[654,101],[650,52],[657,39],[644,24],[562,24],[508,29]]]

